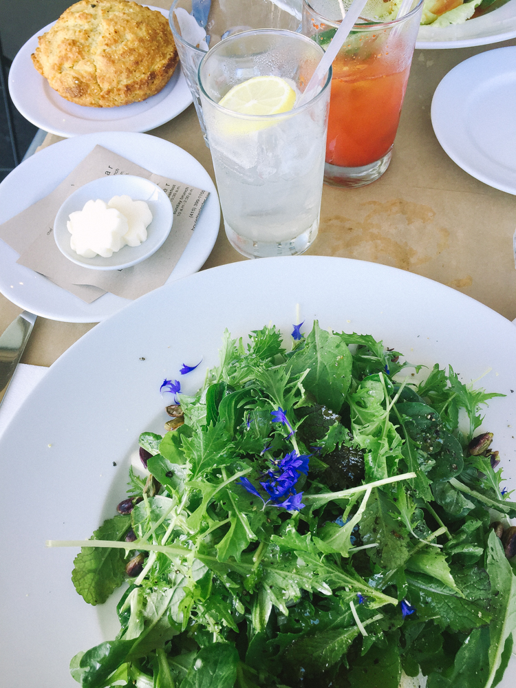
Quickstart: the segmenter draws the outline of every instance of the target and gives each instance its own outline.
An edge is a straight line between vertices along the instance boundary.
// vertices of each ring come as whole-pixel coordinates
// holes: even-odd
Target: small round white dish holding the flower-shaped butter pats
[[[70,247],[70,233],[67,221],[70,213],[82,211],[85,204],[97,199],[105,203],[113,196],[130,196],[133,201],[145,201],[152,213],[152,222],[147,227],[147,239],[140,246],[122,246],[110,258],[96,255],[94,258],[85,258],[78,255]],[[159,186],[143,177],[135,175],[114,175],[113,177],[101,177],[89,184],[81,186],[67,197],[61,208],[57,211],[54,222],[54,239],[61,253],[80,265],[81,268],[92,270],[122,270],[131,265],[141,263],[153,255],[158,248],[163,246],[166,237],[172,228],[174,213],[169,197]]]

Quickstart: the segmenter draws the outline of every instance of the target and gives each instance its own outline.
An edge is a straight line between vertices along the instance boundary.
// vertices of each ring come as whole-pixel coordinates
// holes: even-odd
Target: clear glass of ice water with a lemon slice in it
[[[323,49],[291,31],[248,31],[217,43],[199,67],[199,85],[224,226],[248,258],[297,255],[319,229],[331,69],[308,103],[275,115],[219,105],[256,76],[279,76],[303,92]]]

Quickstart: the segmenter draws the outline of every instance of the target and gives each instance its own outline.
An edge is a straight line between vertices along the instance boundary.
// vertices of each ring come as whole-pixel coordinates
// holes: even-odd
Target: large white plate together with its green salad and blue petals
[[[465,294],[334,257],[128,305],[0,440],[4,682],[513,687],[515,347]]]

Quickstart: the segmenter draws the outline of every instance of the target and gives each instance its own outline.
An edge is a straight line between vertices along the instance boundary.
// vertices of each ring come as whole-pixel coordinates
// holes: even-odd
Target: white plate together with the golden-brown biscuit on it
[[[192,102],[168,16],[127,0],[81,0],[21,47],[12,102],[58,136],[159,127]]]

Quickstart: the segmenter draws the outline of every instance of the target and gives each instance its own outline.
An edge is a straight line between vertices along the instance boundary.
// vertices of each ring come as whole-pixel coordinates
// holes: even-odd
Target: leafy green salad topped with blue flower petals
[[[479,430],[502,395],[438,365],[416,383],[421,366],[372,336],[301,325],[288,342],[226,332],[194,396],[164,380],[171,429],[140,436],[149,474],[131,468],[74,561],[92,605],[129,582],[118,636],[72,659],[84,688],[502,680],[516,503]]]

